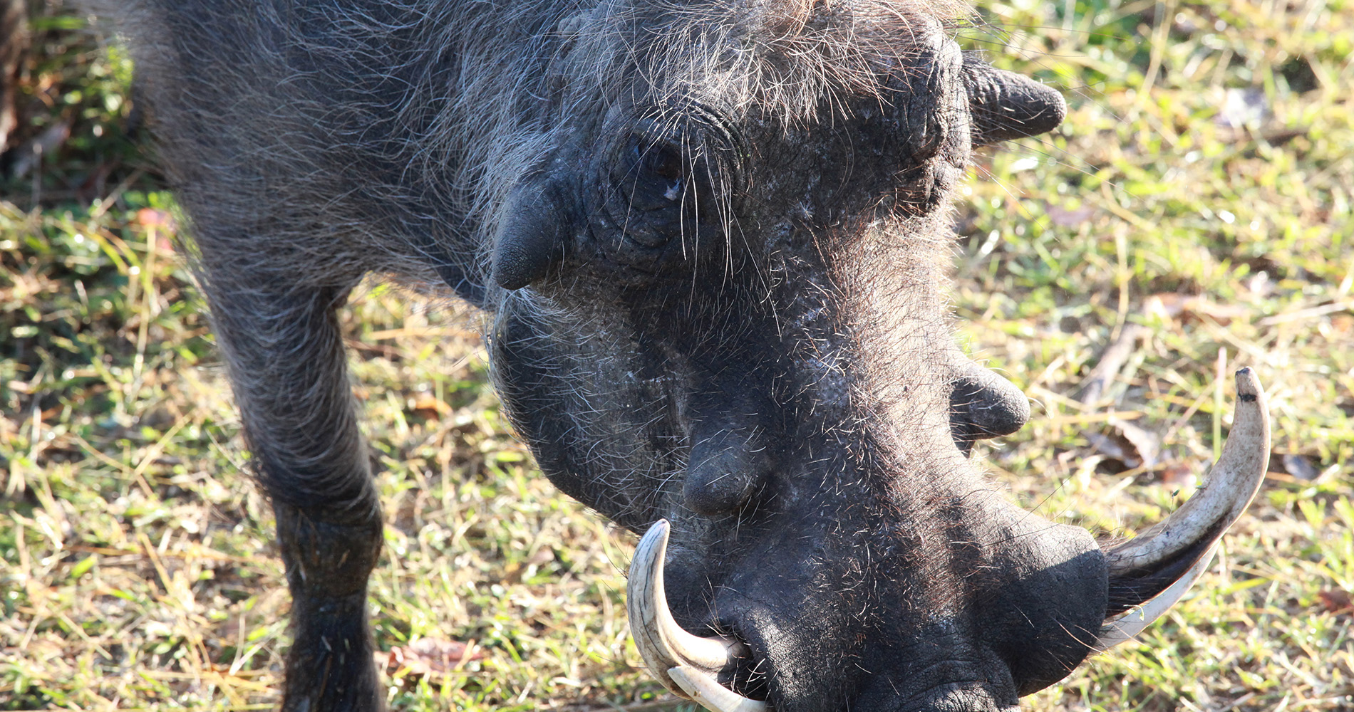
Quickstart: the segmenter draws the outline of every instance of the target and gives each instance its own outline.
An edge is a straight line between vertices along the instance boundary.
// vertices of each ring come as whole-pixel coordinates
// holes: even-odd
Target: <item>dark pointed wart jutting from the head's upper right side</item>
[[[972,54],[964,55],[964,88],[975,146],[1052,131],[1067,118],[1067,102],[1056,89]]]

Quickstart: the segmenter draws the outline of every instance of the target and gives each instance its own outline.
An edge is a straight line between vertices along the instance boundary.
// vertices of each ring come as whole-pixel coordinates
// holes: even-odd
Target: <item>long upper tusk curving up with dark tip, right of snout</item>
[[[1164,521],[1106,551],[1110,578],[1117,573],[1150,571],[1205,539],[1217,541],[1259,491],[1269,464],[1269,443],[1265,390],[1250,368],[1242,368],[1236,372],[1232,430],[1208,482]]]

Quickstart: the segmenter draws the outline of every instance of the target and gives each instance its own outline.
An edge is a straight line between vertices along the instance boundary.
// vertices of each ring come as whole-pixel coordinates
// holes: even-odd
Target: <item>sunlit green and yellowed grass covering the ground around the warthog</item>
[[[1194,592],[1026,707],[1354,709],[1354,7],[983,12],[967,46],[1064,88],[1071,114],[980,156],[960,206],[960,337],[1034,399],[976,456],[1030,509],[1132,533],[1215,455],[1235,367],[1274,425],[1271,476]],[[0,709],[269,708],[288,601],[172,196],[125,135],[125,64],[69,15],[34,24],[20,138],[68,138],[0,184]],[[477,651],[408,655],[391,707],[677,708],[627,640],[631,543],[508,433],[478,317],[372,284],[344,318],[386,502],[378,647]],[[1110,411],[1159,462],[1093,444],[1121,429]]]

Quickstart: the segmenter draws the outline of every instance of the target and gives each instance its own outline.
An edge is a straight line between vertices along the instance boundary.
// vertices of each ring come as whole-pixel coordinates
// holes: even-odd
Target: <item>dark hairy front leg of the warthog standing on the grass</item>
[[[348,290],[227,291],[210,275],[204,283],[292,596],[282,707],[380,709],[367,577],[382,518],[334,317]]]

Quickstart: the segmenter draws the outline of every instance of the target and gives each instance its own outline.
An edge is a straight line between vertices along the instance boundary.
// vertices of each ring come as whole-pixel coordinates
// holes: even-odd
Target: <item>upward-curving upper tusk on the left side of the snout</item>
[[[738,657],[747,654],[747,646],[724,638],[701,638],[686,632],[673,620],[663,589],[663,563],[668,556],[668,520],[658,520],[635,547],[626,583],[626,612],[635,647],[649,670],[672,692],[689,697],[669,675],[674,667],[708,671],[723,670]],[[707,675],[708,677],[708,675]],[[734,694],[734,693],[730,693]]]

